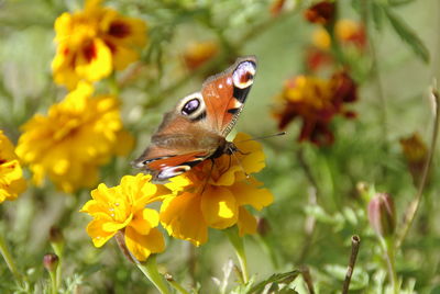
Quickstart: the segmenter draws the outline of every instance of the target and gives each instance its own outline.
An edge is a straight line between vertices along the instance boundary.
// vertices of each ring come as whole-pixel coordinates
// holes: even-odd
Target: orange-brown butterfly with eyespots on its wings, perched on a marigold
[[[239,151],[226,137],[231,132],[254,81],[256,58],[248,56],[209,77],[199,92],[165,113],[151,145],[133,166],[164,182],[207,159]]]

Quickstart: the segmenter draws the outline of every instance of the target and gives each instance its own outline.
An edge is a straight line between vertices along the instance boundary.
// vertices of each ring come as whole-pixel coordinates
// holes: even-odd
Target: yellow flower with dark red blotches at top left
[[[84,11],[55,21],[58,47],[52,61],[55,82],[74,89],[79,80],[97,81],[138,60],[146,44],[146,24],[87,0]]]

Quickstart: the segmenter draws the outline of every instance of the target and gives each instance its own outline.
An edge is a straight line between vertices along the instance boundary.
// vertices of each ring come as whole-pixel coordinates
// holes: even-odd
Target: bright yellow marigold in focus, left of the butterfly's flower
[[[120,185],[107,188],[101,183],[91,191],[92,200],[80,212],[94,217],[87,234],[96,247],[103,246],[122,231],[127,248],[139,261],[165,250],[164,237],[156,228],[158,213],[145,206],[161,201],[169,190],[152,184],[150,180],[151,176],[142,173],[125,176]]]

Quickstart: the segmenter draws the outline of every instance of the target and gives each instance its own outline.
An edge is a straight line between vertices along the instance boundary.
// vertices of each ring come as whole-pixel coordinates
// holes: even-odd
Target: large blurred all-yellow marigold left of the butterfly
[[[98,168],[132,144],[123,131],[119,101],[112,95],[91,97],[92,87],[79,83],[47,115],[35,114],[22,126],[16,154],[30,165],[41,185],[45,176],[65,192],[91,188]]]

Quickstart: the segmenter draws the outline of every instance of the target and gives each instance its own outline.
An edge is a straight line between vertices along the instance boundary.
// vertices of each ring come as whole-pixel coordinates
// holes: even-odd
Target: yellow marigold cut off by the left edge
[[[15,200],[26,189],[14,147],[0,129],[0,203]]]

